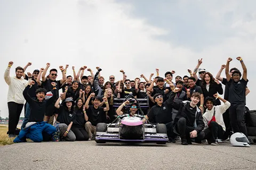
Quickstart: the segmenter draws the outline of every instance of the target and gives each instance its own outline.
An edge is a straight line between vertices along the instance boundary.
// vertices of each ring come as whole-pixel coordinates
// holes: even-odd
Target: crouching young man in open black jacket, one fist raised
[[[173,131],[181,138],[181,145],[192,144],[191,139],[201,143],[204,139],[204,121],[201,110],[196,106],[200,100],[200,94],[194,92],[191,101],[174,101],[179,88],[175,88],[170,96],[172,108],[178,110],[173,121]]]

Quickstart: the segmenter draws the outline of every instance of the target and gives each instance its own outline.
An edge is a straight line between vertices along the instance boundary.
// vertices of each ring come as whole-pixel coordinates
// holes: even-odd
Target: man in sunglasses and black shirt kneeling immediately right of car
[[[159,93],[155,94],[153,98],[156,105],[150,109],[150,111],[145,117],[152,123],[165,124],[169,142],[175,143],[174,133],[172,129],[173,120],[172,120],[172,106],[170,105],[171,98],[169,97],[168,100],[164,101],[163,95]]]

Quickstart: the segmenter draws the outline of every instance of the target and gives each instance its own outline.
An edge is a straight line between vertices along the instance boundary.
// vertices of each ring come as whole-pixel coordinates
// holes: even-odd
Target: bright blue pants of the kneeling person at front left
[[[38,122],[20,131],[17,138],[13,140],[14,143],[25,142],[30,139],[34,142],[43,141],[43,133],[52,135],[56,132],[56,128],[46,122]]]

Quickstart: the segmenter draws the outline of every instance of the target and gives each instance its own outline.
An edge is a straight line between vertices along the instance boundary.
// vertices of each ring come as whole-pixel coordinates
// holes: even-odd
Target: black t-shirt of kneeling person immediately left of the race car
[[[86,110],[86,114],[89,118],[88,121],[91,122],[93,126],[97,126],[98,123],[105,123],[107,120],[103,107],[96,109],[94,106],[89,106]]]

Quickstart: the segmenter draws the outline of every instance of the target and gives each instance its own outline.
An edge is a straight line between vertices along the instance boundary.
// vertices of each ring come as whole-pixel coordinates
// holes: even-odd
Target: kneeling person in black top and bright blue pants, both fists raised
[[[25,128],[20,131],[18,137],[14,139],[14,143],[26,142],[26,139],[30,139],[34,142],[42,142],[44,140],[43,137],[49,136],[52,137],[53,141],[58,141],[58,137],[56,135],[56,128],[51,124],[47,124],[43,121],[47,106],[54,101],[57,95],[55,82],[52,82],[53,96],[48,100],[44,99],[46,95],[46,90],[43,88],[39,88],[36,90],[37,99],[33,99],[28,95],[30,87],[34,84],[34,81],[30,81],[29,85],[23,91],[23,96],[30,106],[30,115],[28,123],[25,125]]]

